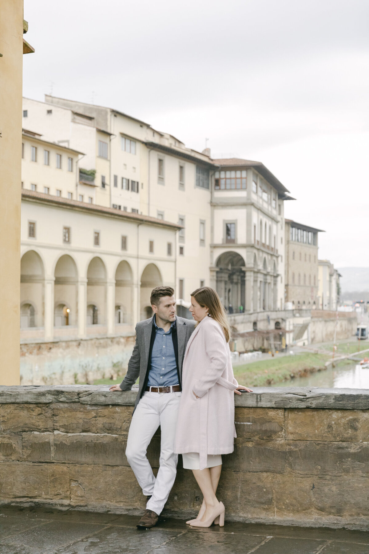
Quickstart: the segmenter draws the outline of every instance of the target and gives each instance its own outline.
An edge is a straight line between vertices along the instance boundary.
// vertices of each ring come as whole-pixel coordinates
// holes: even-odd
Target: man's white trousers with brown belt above
[[[162,512],[173,486],[178,454],[174,454],[174,435],[178,417],[180,392],[144,392],[132,416],[126,456],[145,496],[150,496],[147,509]],[[147,447],[160,425],[160,465],[157,477],[146,457]]]

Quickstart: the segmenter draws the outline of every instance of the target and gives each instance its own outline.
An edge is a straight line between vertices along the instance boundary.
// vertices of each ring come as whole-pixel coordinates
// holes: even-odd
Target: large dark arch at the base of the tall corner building
[[[238,252],[224,252],[216,261],[216,290],[229,314],[245,308],[245,260]]]

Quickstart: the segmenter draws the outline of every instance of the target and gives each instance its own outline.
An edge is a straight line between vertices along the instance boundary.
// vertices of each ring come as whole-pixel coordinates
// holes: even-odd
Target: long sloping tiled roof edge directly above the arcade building
[[[51,196],[50,194],[43,194],[41,192],[26,191],[25,189],[22,189],[22,200],[25,202],[46,204],[47,206],[57,208],[71,209],[77,212],[93,213],[98,216],[125,220],[132,223],[148,223],[173,230],[179,230],[182,228],[182,226],[178,223],[171,223],[155,217],[143,216],[142,214],[131,212],[122,212],[116,208],[107,208],[105,206],[97,206],[96,204],[77,202],[76,200],[69,200],[59,196]]]

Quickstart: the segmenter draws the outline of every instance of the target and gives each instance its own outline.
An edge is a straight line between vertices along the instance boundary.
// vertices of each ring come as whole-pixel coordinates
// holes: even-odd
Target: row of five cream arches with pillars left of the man
[[[46,261],[40,252],[27,250],[20,261],[22,336],[51,340],[133,330],[152,314],[151,290],[163,284],[156,264],[142,261],[136,272],[134,266],[132,260],[100,255],[76,260],[60,253]]]

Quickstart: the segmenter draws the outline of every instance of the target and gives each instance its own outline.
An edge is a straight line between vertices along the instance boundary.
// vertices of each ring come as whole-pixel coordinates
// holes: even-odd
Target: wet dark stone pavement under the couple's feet
[[[51,507],[0,507],[1,554],[369,554],[369,532],[227,522],[189,527],[163,517],[138,530],[137,516]]]

